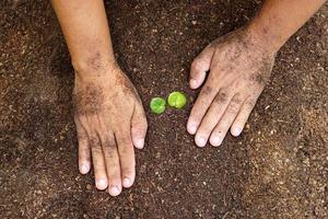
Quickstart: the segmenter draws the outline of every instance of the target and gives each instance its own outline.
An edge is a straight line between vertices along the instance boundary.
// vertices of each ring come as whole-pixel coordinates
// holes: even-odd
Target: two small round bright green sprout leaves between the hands
[[[175,108],[181,108],[186,105],[187,99],[181,92],[172,92],[167,97],[169,106]],[[163,97],[153,97],[150,103],[150,108],[154,114],[162,114],[166,108],[166,101]]]

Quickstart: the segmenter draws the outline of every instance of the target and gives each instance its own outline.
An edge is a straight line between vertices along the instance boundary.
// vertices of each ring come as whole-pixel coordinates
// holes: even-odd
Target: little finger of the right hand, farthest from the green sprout
[[[235,137],[239,136],[245,127],[245,124],[258,100],[256,97],[248,97],[245,103],[243,104],[241,112],[238,113],[236,119],[234,120],[231,127],[231,134]]]

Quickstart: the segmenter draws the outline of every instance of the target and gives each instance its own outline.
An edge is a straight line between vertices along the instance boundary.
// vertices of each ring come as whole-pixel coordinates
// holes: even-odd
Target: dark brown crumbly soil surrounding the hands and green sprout
[[[145,106],[174,90],[192,103],[191,60],[260,4],[126,2],[106,7]],[[327,16],[328,4],[281,49],[246,131],[219,149],[198,149],[186,132],[191,104],[161,116],[147,107],[137,183],[114,198],[78,172],[72,67],[49,2],[1,1],[0,218],[327,218]]]

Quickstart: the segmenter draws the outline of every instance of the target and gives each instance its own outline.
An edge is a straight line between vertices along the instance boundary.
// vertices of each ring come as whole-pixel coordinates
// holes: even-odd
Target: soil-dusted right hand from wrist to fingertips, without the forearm
[[[209,140],[220,146],[231,128],[238,136],[265,84],[269,81],[276,51],[246,28],[212,42],[192,62],[191,89],[208,79],[191,110],[187,124],[196,145]]]

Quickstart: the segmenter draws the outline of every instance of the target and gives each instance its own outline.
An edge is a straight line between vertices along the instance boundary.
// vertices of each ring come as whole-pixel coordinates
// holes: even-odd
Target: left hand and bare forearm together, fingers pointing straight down
[[[79,169],[112,196],[136,177],[134,151],[148,128],[140,97],[115,61],[103,0],[52,0],[75,70]]]

